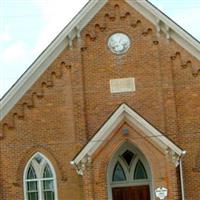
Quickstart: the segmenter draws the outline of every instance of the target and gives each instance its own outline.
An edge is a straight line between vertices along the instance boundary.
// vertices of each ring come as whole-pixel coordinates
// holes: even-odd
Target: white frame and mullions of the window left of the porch
[[[38,167],[38,163],[36,163],[34,161],[34,158],[35,156],[37,155],[40,155],[42,158],[43,158],[43,161],[44,163],[47,163],[51,169],[51,172],[53,174],[53,178],[37,178],[37,179],[31,179],[31,180],[27,180],[27,173],[28,173],[28,169],[30,167],[30,164],[32,162],[33,164],[33,168],[35,169],[35,173],[37,175],[37,177],[42,177],[42,172],[44,171],[44,167],[45,167],[45,164],[43,164],[43,168],[39,168]],[[27,162],[25,168],[24,168],[24,174],[23,174],[23,184],[24,184],[24,200],[28,200],[28,190],[27,190],[27,182],[31,182],[31,181],[37,181],[38,183],[38,200],[44,200],[43,197],[42,197],[42,194],[43,194],[43,189],[42,189],[42,181],[44,180],[53,180],[53,183],[54,183],[54,193],[55,193],[55,200],[58,200],[58,192],[57,192],[57,178],[56,178],[56,173],[55,173],[55,170],[54,170],[54,167],[53,165],[51,164],[51,162],[49,161],[49,159],[42,153],[40,152],[37,152],[35,153],[30,159],[29,161]]]

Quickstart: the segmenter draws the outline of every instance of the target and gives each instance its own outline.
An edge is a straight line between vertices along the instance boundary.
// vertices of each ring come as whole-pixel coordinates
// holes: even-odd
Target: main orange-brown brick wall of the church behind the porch
[[[122,56],[107,47],[114,32],[132,40]],[[69,162],[126,102],[187,150],[186,195],[199,200],[199,67],[133,8],[110,0],[81,32],[81,41],[63,51],[1,122],[1,199],[23,199],[23,169],[37,151],[55,165],[59,199],[83,199],[84,182]],[[127,77],[135,78],[136,92],[111,94],[109,80]]]

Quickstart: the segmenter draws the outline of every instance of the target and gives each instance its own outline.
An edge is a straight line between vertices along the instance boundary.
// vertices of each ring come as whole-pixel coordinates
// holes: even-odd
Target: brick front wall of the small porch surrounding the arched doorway
[[[123,128],[128,128],[128,135],[122,134]],[[86,193],[88,195],[87,199],[108,199],[108,168],[115,152],[127,141],[136,148],[139,147],[145,155],[151,168],[151,172],[149,172],[149,178],[152,179],[151,186],[157,188],[162,185],[168,188],[169,195],[167,199],[179,199],[176,167],[172,157],[170,154],[166,154],[163,149],[159,149],[150,138],[145,138],[142,132],[129,125],[127,121],[124,121],[111,133],[110,138],[101,145],[98,152],[92,157],[93,162],[86,167],[83,179],[90,179],[92,183],[86,184],[85,190],[94,191],[93,198],[91,198],[89,192]]]

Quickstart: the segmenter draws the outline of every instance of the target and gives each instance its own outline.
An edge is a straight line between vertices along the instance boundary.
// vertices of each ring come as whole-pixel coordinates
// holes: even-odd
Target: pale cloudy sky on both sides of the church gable
[[[87,1],[0,0],[0,98]],[[200,40],[200,0],[149,1]]]

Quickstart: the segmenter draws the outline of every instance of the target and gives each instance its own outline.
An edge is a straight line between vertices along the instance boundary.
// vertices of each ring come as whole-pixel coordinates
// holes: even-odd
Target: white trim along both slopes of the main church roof
[[[158,31],[164,32],[167,38],[171,37],[174,39],[179,45],[199,60],[200,43],[154,7],[150,2],[146,0],[125,1],[146,17],[147,20],[150,20],[157,27]],[[42,54],[1,99],[0,120],[5,117],[28,89],[47,70],[49,65],[58,57],[64,48],[69,46],[75,37],[80,36],[82,29],[107,2],[108,0],[90,0],[55,38],[55,40],[42,52]]]

